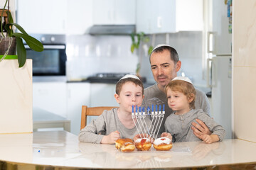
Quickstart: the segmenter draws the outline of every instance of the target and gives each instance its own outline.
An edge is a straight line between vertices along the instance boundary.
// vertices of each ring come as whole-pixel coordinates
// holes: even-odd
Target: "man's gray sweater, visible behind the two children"
[[[144,95],[145,95],[145,97],[144,97],[142,105],[146,108],[148,106],[149,106],[149,108],[151,108],[152,104],[154,104],[154,107],[155,107],[155,105],[161,105],[161,107],[163,106],[163,104],[165,105],[164,120],[163,120],[163,123],[161,124],[161,128],[159,130],[159,134],[161,134],[162,132],[164,132],[164,122],[165,122],[166,118],[169,115],[171,115],[171,113],[173,113],[174,111],[172,111],[171,108],[169,108],[168,103],[167,103],[166,94],[164,94],[164,92],[159,89],[157,84],[154,84],[153,86],[149,86],[148,88],[146,88],[144,90]],[[208,101],[208,98],[207,98],[206,94],[203,93],[203,91],[200,91],[198,89],[196,89],[195,106],[196,106],[196,109],[201,108],[201,109],[203,109],[203,111],[205,113],[210,114],[210,103]]]

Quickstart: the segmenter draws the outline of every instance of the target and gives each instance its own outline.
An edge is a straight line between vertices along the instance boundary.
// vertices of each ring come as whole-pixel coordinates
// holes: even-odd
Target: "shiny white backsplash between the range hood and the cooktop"
[[[129,36],[69,35],[68,80],[86,79],[97,73],[135,73],[137,55],[130,52]]]

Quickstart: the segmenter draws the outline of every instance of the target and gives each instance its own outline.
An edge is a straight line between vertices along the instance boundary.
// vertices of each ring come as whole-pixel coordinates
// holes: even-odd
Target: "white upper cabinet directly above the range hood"
[[[94,0],[92,18],[95,25],[135,24],[135,0]]]

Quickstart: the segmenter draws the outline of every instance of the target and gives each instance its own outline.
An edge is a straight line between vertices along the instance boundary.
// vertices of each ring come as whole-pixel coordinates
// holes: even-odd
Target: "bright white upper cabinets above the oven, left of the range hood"
[[[18,0],[17,22],[27,33],[85,34],[92,26],[92,0]]]

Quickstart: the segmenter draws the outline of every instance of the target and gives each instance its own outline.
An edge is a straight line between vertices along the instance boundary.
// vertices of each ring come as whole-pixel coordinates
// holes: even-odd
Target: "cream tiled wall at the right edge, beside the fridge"
[[[233,115],[235,137],[256,142],[256,1],[233,0]]]

